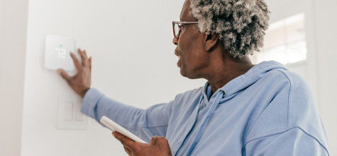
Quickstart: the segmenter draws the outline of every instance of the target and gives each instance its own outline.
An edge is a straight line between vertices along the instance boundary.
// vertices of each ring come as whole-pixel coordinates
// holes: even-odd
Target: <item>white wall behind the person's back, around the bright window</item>
[[[335,100],[337,94],[337,1],[336,0],[267,0],[271,21],[304,12],[308,58],[304,64],[291,66],[304,73],[321,112],[331,155],[337,155]]]

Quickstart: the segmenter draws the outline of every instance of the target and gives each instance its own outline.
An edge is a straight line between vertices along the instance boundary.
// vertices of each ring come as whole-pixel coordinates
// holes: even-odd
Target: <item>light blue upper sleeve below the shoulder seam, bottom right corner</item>
[[[310,133],[293,127],[253,138],[245,155],[328,155],[328,150]]]

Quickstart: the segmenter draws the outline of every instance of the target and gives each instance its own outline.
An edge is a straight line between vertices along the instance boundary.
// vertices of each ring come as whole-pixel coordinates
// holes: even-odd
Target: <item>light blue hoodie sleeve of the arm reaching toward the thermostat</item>
[[[92,88],[84,97],[81,112],[92,117],[99,124],[101,124],[101,116],[107,116],[131,133],[150,142],[153,136],[166,136],[173,102],[155,104],[148,109],[139,109],[111,100],[99,90]]]

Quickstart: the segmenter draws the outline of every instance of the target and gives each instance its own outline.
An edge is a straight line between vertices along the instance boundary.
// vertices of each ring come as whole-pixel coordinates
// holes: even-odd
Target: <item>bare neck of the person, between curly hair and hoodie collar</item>
[[[218,58],[218,59],[216,59]],[[207,76],[209,85],[211,85],[212,95],[216,90],[226,85],[229,81],[237,78],[238,76],[246,73],[254,65],[250,62],[248,56],[238,59],[233,59],[230,56],[214,58],[213,64],[211,64],[210,73]]]

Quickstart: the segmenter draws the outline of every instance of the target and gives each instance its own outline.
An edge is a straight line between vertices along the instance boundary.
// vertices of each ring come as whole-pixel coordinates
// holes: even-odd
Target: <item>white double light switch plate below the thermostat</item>
[[[82,98],[74,92],[59,94],[57,129],[86,130],[87,116],[81,113]]]

